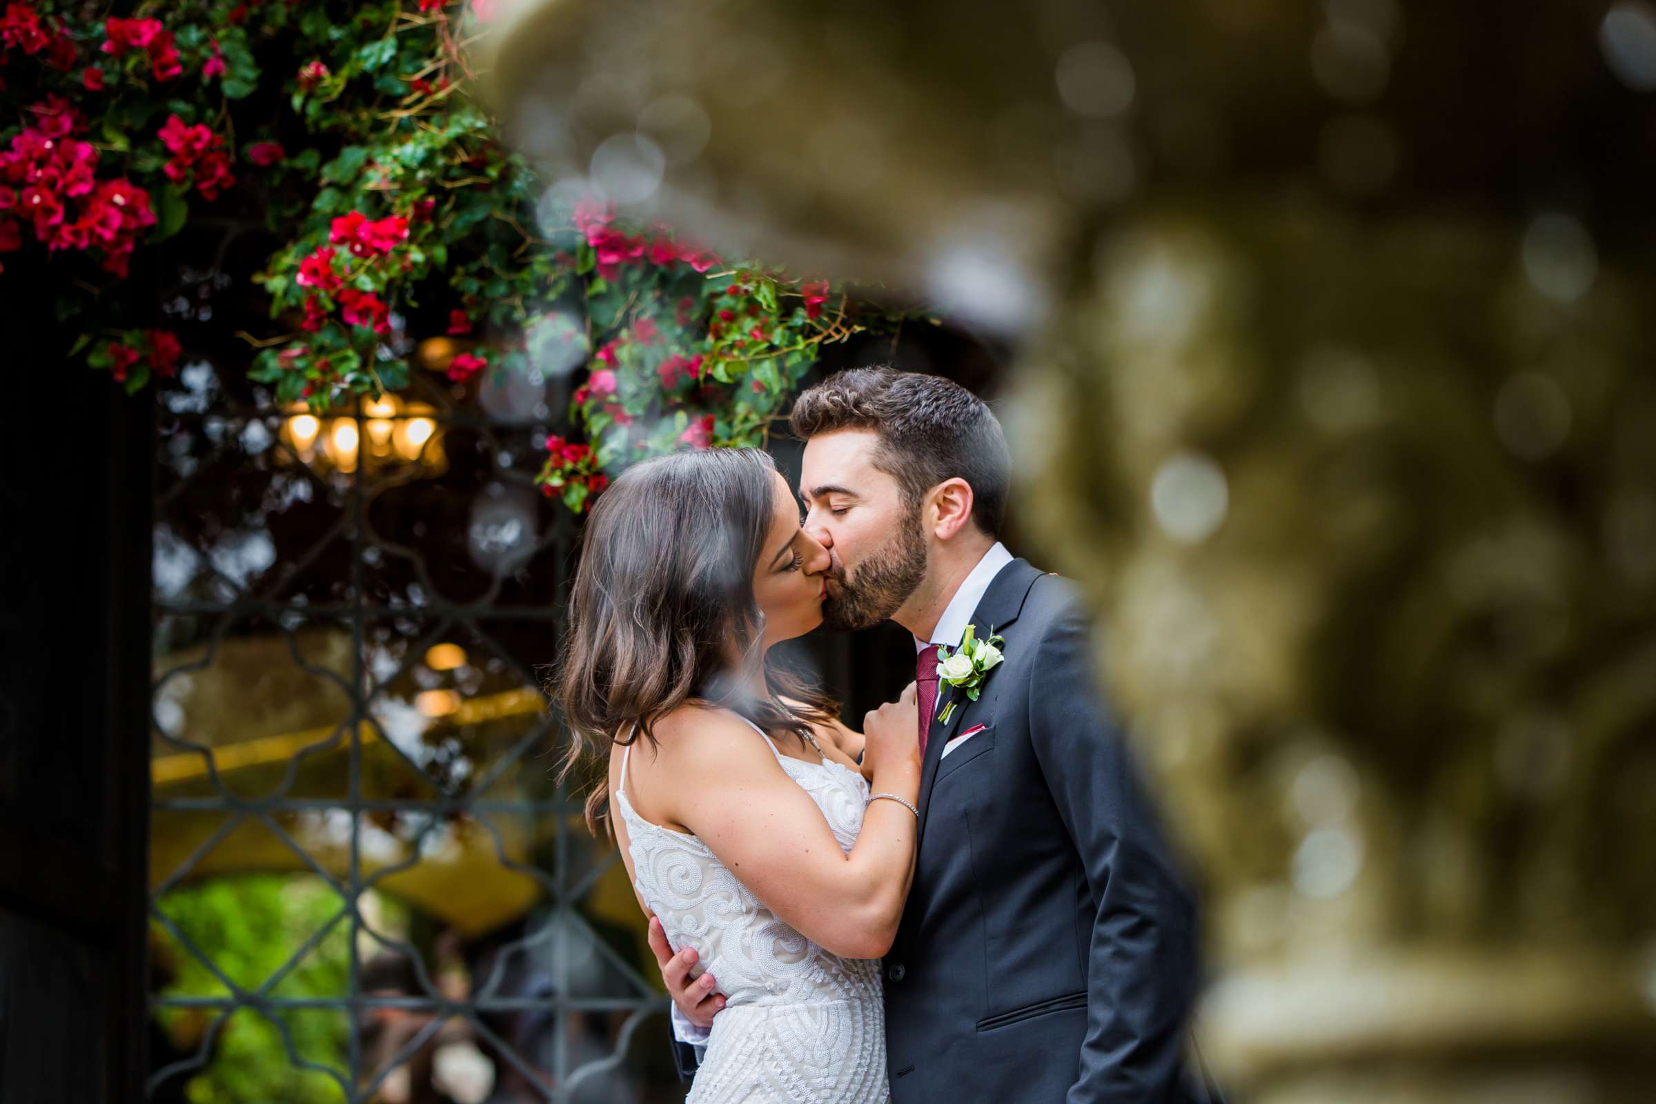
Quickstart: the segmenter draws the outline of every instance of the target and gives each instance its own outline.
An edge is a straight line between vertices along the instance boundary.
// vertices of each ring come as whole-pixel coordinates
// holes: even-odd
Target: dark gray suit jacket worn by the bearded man
[[[972,624],[1005,659],[927,733],[919,866],[884,963],[891,1099],[1199,1099],[1196,910],[1096,689],[1091,621],[1015,559]],[[934,717],[959,694],[939,687]]]

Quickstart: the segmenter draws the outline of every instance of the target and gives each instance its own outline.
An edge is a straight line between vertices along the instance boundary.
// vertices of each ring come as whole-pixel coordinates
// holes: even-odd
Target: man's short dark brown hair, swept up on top
[[[1012,490],[1012,455],[989,404],[970,391],[888,364],[850,367],[806,389],[788,417],[800,440],[841,429],[879,435],[874,467],[898,480],[912,510],[947,478],[972,487],[972,521],[1000,536]]]

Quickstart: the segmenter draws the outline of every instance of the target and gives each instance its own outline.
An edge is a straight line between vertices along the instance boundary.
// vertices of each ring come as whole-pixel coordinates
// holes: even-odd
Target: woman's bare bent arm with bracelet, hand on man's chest
[[[912,700],[868,715],[871,743],[901,746],[916,727]],[[888,740],[881,745],[879,733]],[[896,801],[871,801],[850,854],[816,803],[734,717],[704,712],[662,756],[672,819],[712,847],[755,897],[811,942],[846,958],[891,948],[914,874],[916,818]],[[907,745],[914,745],[912,735]],[[876,750],[879,750],[876,746]],[[669,758],[672,760],[669,763]],[[876,791],[919,796],[919,758],[874,755]]]

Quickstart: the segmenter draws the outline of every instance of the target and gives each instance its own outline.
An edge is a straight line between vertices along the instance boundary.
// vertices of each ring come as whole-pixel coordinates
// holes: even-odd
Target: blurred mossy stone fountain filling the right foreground
[[[542,0],[489,45],[553,197],[1018,339],[1032,551],[1098,609],[1249,1101],[1656,1084],[1656,278],[1512,195],[1528,142],[1649,132],[1593,114],[1644,63],[1596,20]]]

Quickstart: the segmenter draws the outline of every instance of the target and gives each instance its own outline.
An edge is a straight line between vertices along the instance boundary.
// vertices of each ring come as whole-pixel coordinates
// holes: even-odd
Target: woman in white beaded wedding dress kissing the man
[[[911,685],[858,735],[767,664],[821,622],[828,573],[758,450],[639,463],[586,523],[563,770],[608,753],[588,826],[608,804],[639,905],[727,998],[689,1101],[888,1099],[878,958],[914,872],[919,717]]]

